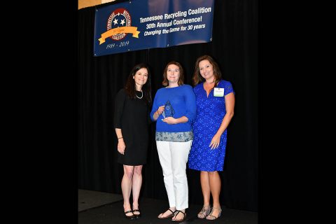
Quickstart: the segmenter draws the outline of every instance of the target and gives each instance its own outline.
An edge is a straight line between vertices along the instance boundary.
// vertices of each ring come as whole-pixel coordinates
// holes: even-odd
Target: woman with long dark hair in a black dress
[[[139,195],[142,166],[146,164],[151,98],[150,71],[146,64],[132,69],[127,83],[116,96],[114,127],[118,138],[118,162],[123,164],[121,190],[125,217],[140,218]],[[130,195],[133,195],[132,208]]]

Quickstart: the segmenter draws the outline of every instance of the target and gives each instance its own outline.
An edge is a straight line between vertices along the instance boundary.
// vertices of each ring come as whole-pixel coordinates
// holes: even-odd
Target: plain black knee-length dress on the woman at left
[[[137,95],[141,96],[137,91]],[[144,165],[147,161],[148,124],[151,121],[145,97],[130,99],[124,89],[116,95],[114,127],[120,128],[125,142],[125,154],[118,153],[123,165]]]

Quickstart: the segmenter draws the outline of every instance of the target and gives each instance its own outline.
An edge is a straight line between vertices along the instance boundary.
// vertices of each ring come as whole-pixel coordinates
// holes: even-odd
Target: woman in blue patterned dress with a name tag
[[[198,218],[214,220],[221,216],[219,194],[223,171],[227,128],[235,107],[235,92],[230,82],[221,79],[218,64],[209,55],[199,57],[193,76],[197,116],[193,123],[194,139],[189,168],[200,170],[204,205]],[[210,206],[210,195],[213,207]]]

